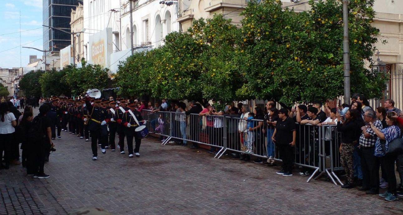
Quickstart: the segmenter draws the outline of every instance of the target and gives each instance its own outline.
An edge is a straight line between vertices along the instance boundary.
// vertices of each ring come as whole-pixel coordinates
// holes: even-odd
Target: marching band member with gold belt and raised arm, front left
[[[96,103],[100,102],[100,99],[95,100]],[[88,129],[91,132],[91,149],[93,154],[93,160],[97,160],[98,156],[98,139],[101,137],[102,126],[106,125],[106,110],[102,107],[91,105],[89,97],[85,99],[85,105],[88,108],[88,113],[91,115],[91,119],[88,122]],[[105,145],[101,146],[102,153],[106,153]]]

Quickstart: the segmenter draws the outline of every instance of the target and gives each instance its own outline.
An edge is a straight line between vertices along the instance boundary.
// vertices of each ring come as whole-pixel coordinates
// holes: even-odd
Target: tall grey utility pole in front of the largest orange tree
[[[343,0],[343,70],[344,102],[350,104],[350,43],[349,43],[349,9],[348,0]]]

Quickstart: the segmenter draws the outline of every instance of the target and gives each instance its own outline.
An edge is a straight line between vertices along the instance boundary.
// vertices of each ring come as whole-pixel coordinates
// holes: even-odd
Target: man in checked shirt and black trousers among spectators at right
[[[374,156],[377,136],[370,126],[370,122],[378,130],[382,129],[382,122],[376,118],[375,112],[370,109],[364,114],[367,123],[361,127],[359,150],[361,151],[362,187],[366,194],[379,194],[379,159]]]

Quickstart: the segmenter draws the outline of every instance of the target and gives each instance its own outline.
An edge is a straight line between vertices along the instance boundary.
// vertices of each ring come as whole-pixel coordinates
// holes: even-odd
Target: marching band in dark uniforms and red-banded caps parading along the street
[[[98,94],[98,90],[97,91]],[[125,154],[125,137],[129,157],[140,157],[139,149],[141,139],[148,134],[145,121],[140,112],[136,110],[137,104],[124,98],[113,97],[101,99],[91,91],[85,98],[69,99],[65,97],[52,97],[51,111],[56,114],[56,126],[52,128],[52,140],[61,139],[62,132],[77,135],[79,139],[90,141],[92,159],[98,159],[98,146],[106,154],[107,149],[116,151],[115,137],[118,134],[118,150]],[[135,148],[133,149],[133,139]]]

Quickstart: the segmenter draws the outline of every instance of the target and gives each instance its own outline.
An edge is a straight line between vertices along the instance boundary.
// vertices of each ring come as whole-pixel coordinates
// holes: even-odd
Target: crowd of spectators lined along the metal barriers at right
[[[142,110],[148,109],[146,107]],[[397,201],[398,196],[403,196],[403,155],[387,153],[388,144],[401,138],[403,126],[403,112],[395,107],[392,99],[387,99],[382,107],[375,109],[360,94],[352,96],[351,106],[331,105],[330,101],[326,101],[323,106],[321,102],[314,102],[278,110],[275,101],[268,101],[264,109],[255,107],[252,110],[248,104],[243,103],[229,103],[224,110],[217,110],[216,107],[214,100],[204,105],[195,101],[190,101],[189,105],[182,101],[170,101],[168,104],[162,100],[162,103],[155,103],[154,108],[148,110],[151,110],[151,114],[175,113],[172,115],[173,120],[160,113],[151,121],[153,129],[164,124],[164,128],[160,127],[160,134],[164,136],[169,136],[168,128],[171,128],[174,138],[170,143],[187,146],[190,140],[190,147],[196,148],[196,142],[201,141],[204,132],[208,136],[204,142],[211,144],[209,152],[217,153],[218,149],[214,146],[224,145],[223,134],[226,131],[226,144],[237,152],[229,152],[229,155],[243,161],[253,159],[255,163],[266,163],[269,166],[276,165],[276,155],[280,155],[282,169],[277,174],[283,176],[293,175],[293,162],[297,157],[305,159],[304,155],[294,154],[295,147],[302,147],[299,143],[301,140],[296,137],[299,130],[297,125],[327,126],[326,140],[332,139],[334,133],[341,137],[338,151],[346,178],[342,188],[359,187],[366,194],[379,194],[380,188],[388,188],[379,194],[386,201]],[[165,141],[164,136],[161,137],[162,141]],[[313,156],[318,156],[316,150],[311,149],[311,145],[305,149],[314,153]],[[328,149],[326,151],[328,154]],[[263,161],[263,157],[267,157],[267,161]],[[400,176],[399,185],[395,177],[395,163]],[[312,174],[310,169],[300,168],[299,175]]]

